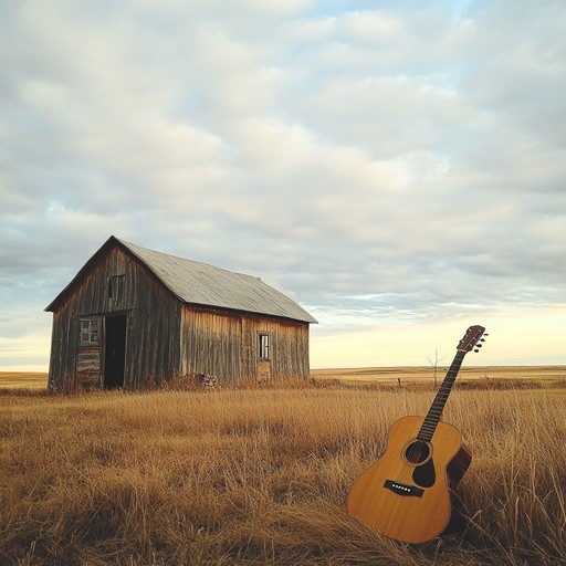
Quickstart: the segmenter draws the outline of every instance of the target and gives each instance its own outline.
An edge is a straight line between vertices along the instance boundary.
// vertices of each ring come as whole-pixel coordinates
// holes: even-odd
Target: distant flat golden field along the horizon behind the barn
[[[437,368],[437,380],[442,380],[448,368]],[[422,382],[434,378],[431,367],[357,367],[312,369],[311,376],[315,380],[334,379],[338,381],[355,382]],[[566,366],[482,366],[463,367],[460,369],[459,380],[474,379],[566,379]],[[46,373],[32,371],[0,371],[0,388],[44,389],[48,386]]]

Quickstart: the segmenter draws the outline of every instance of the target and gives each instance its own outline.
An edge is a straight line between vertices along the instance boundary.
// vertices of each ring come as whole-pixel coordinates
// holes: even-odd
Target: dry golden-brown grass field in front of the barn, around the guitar
[[[427,411],[431,369],[402,387],[340,371],[284,388],[1,390],[0,564],[566,564],[564,368],[457,382],[444,419],[473,454],[468,527],[423,546],[345,503],[392,421]]]

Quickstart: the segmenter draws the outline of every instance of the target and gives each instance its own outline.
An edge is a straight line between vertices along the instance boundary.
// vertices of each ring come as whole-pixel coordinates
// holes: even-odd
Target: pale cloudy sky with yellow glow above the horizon
[[[118,238],[261,276],[313,367],[566,364],[566,4],[7,0],[0,369]]]

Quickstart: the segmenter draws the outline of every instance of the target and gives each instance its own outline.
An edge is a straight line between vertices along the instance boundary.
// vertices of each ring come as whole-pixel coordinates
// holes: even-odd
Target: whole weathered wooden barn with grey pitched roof
[[[136,389],[148,380],[308,376],[316,321],[259,277],[111,237],[45,308],[49,386]]]

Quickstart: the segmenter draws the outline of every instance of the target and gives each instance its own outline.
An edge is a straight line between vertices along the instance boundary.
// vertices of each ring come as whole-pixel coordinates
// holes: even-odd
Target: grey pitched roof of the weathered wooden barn
[[[292,298],[263,283],[259,277],[148,250],[115,237],[111,237],[98,252],[112,242],[134,254],[184,303],[316,323],[316,319]],[[83,270],[87,270],[88,264],[90,262]],[[48,306],[46,311],[53,310],[52,307],[63,294],[66,294],[83,270]]]

